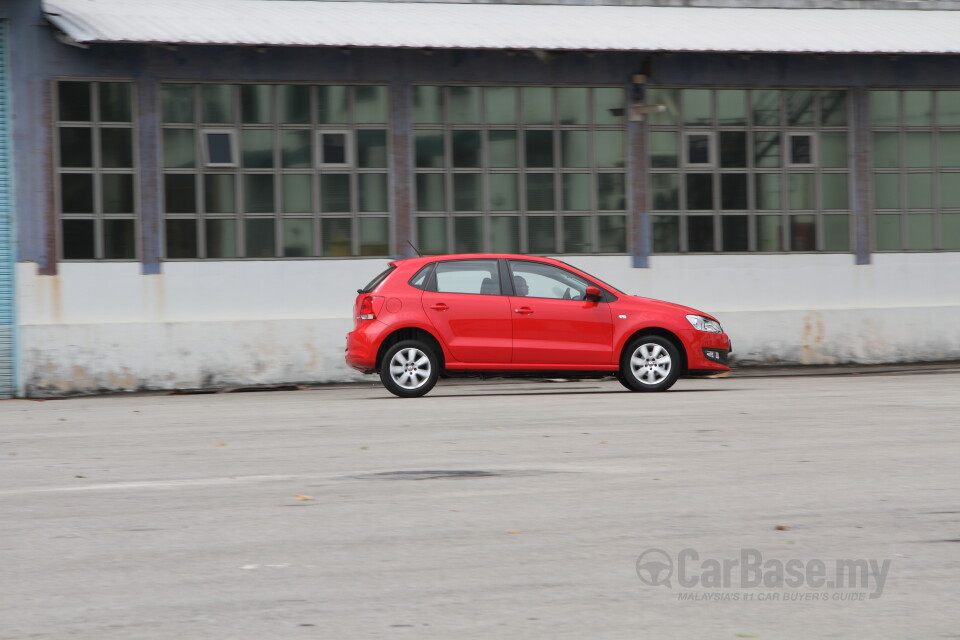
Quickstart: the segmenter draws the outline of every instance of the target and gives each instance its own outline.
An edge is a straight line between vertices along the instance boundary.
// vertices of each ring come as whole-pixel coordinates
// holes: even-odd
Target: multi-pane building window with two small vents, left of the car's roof
[[[161,85],[166,258],[390,253],[387,88]]]

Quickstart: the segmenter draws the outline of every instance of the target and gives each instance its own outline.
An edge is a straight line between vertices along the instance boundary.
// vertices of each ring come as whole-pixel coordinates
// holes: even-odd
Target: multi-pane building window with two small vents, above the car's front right
[[[651,87],[655,253],[849,251],[847,94]]]

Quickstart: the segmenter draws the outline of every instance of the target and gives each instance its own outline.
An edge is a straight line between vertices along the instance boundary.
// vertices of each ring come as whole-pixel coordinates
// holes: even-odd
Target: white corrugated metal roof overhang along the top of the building
[[[45,0],[81,43],[960,53],[960,12],[311,0]]]

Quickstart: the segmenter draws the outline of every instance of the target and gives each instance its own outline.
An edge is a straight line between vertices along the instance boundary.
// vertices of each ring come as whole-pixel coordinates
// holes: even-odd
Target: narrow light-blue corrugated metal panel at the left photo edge
[[[16,395],[13,194],[10,173],[10,90],[7,22],[0,20],[0,398]]]

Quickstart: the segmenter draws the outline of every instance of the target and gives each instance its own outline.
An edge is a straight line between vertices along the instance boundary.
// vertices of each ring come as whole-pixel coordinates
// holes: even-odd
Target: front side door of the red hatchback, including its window
[[[611,364],[610,305],[584,300],[588,282],[560,267],[510,260],[515,364]]]

